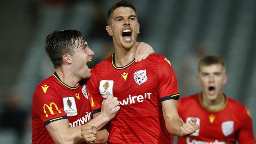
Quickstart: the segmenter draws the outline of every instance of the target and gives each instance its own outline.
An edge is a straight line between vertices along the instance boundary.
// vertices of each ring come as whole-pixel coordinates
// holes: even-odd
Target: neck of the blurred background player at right
[[[208,109],[211,110],[217,110],[223,107],[225,104],[225,97],[223,93],[221,92],[218,94],[217,98],[215,100],[209,100],[206,96],[206,94],[202,93],[202,103],[204,106],[206,106]]]

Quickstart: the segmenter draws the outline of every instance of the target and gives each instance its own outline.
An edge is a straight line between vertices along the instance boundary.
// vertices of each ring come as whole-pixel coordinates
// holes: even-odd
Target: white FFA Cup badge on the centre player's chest
[[[113,94],[113,84],[112,80],[100,81],[100,94],[103,98],[108,98],[109,94]]]

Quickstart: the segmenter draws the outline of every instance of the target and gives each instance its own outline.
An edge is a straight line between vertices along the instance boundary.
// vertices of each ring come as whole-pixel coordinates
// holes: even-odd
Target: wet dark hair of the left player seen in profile
[[[83,34],[78,30],[56,30],[47,35],[45,38],[45,51],[50,57],[54,68],[62,65],[63,55],[74,54],[74,46],[77,40],[81,44],[80,46],[85,42]]]

